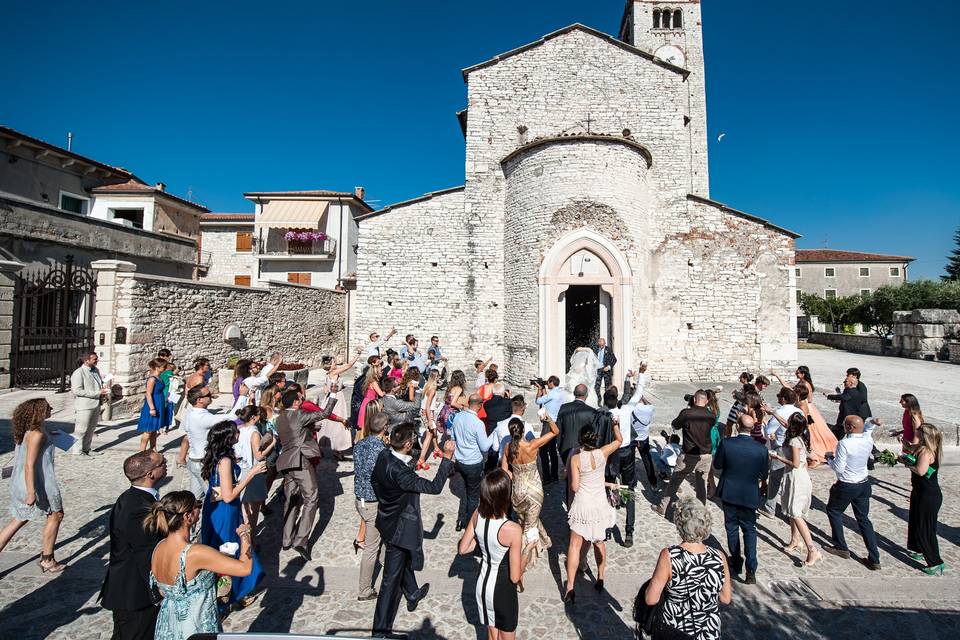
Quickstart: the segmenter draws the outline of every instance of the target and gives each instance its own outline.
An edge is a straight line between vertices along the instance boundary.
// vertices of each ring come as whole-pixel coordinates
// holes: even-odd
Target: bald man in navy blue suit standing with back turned
[[[730,570],[739,575],[743,569],[740,554],[740,531],[743,531],[747,575],[744,582],[757,583],[757,509],[766,493],[761,483],[767,480],[769,452],[750,435],[756,421],[741,414],[737,436],[720,441],[713,456],[713,467],[723,472],[717,486],[717,497],[723,506],[723,526],[727,530],[730,549]]]

